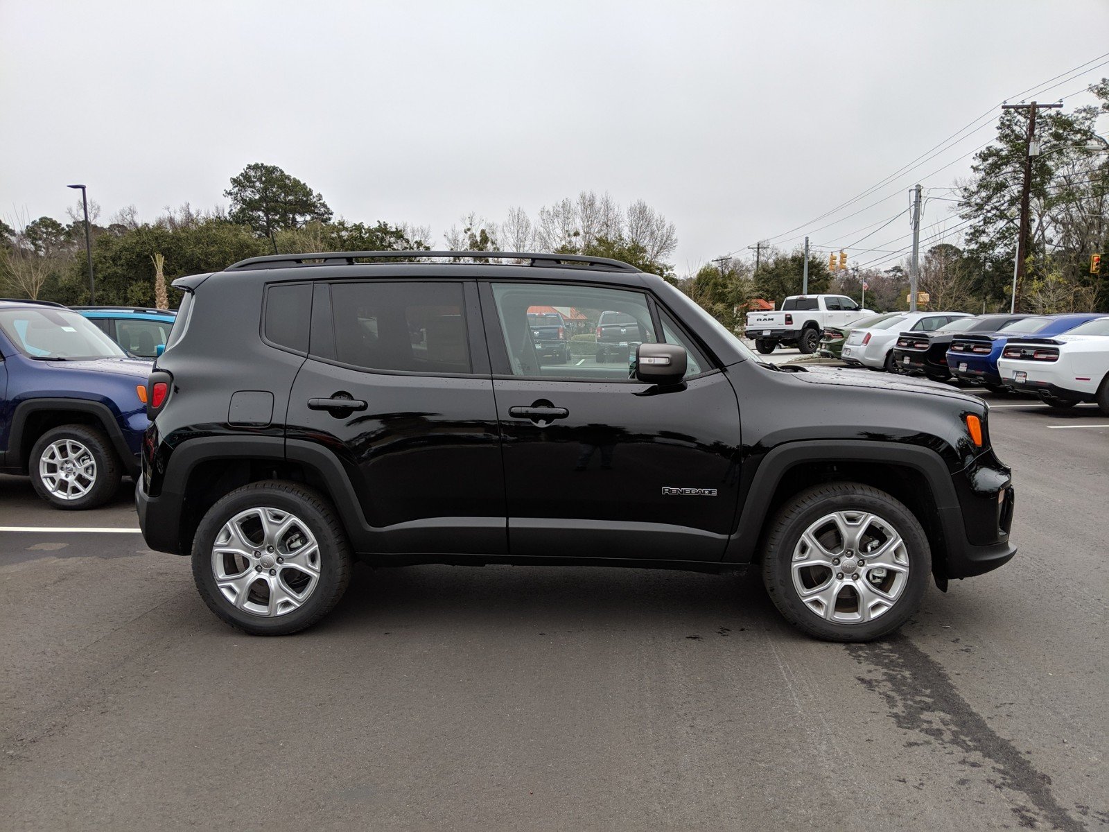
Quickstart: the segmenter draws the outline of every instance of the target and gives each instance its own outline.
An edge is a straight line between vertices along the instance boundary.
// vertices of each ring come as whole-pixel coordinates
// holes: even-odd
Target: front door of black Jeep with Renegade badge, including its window
[[[545,281],[486,283],[481,296],[511,554],[719,560],[739,489],[739,406],[724,373],[644,292]],[[592,332],[606,313],[634,318],[642,339],[686,347],[684,388],[631,378],[634,347],[599,361],[578,339],[569,363],[541,359],[531,306],[570,307]]]

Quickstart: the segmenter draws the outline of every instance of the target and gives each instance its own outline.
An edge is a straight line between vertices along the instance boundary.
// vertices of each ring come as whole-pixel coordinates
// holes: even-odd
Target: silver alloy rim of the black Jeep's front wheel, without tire
[[[908,549],[893,524],[869,511],[833,511],[801,535],[790,565],[793,588],[834,623],[873,621],[908,584]]]

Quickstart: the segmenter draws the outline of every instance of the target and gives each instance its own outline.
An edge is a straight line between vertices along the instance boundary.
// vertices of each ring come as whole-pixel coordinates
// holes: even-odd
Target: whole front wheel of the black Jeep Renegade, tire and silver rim
[[[826,641],[871,641],[917,610],[932,551],[904,504],[871,486],[830,483],[777,513],[762,571],[790,623]]]

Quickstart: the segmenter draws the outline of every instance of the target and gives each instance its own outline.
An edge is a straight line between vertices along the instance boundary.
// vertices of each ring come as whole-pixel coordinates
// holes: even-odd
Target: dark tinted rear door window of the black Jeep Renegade
[[[459,283],[333,283],[335,357],[393,373],[469,373]]]

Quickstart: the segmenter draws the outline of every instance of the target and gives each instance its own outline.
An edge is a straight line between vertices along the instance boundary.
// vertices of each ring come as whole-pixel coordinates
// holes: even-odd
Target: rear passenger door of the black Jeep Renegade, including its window
[[[372,551],[506,554],[500,438],[477,285],[319,283],[312,306],[309,356],[289,396],[287,438],[327,445],[339,457]]]

